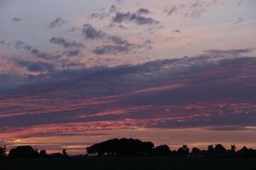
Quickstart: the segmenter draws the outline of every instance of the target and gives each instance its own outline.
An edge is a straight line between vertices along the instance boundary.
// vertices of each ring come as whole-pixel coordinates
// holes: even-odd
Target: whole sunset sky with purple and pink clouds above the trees
[[[0,145],[256,148],[254,0],[0,0]]]

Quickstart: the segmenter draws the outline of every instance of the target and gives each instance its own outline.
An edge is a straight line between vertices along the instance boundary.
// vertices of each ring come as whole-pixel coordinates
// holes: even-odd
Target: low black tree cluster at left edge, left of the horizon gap
[[[32,146],[24,145],[17,146],[15,149],[9,150],[9,154],[7,154],[6,147],[0,147],[0,159],[1,158],[11,158],[11,159],[19,159],[19,158],[44,158],[44,157],[68,157],[67,150],[62,150],[62,153],[53,153],[48,154],[46,150],[37,150],[32,148]]]

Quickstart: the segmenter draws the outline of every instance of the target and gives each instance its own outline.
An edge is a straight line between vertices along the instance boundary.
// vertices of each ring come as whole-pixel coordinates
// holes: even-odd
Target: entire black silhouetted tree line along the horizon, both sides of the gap
[[[166,144],[155,146],[152,142],[143,142],[139,139],[109,139],[107,141],[93,144],[86,148],[84,156],[181,156],[181,157],[256,157],[256,150],[248,149],[246,146],[236,150],[236,145],[225,149],[222,144],[208,145],[207,150],[192,148],[183,145],[177,150],[170,150]],[[48,154],[46,150],[37,150],[32,146],[17,146],[9,150],[5,146],[0,147],[0,159],[13,158],[52,158],[68,157],[67,150],[62,153]]]

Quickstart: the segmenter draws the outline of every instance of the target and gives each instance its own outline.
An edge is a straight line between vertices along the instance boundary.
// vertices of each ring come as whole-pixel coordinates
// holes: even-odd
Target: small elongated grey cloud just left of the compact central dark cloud
[[[63,37],[51,37],[49,42],[59,44],[64,48],[84,48],[84,44],[80,42],[68,42]]]

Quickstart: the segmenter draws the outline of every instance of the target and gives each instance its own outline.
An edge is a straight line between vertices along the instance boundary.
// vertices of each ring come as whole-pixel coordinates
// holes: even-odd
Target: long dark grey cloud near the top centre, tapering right
[[[159,21],[154,20],[149,17],[143,17],[138,14],[131,14],[131,13],[117,13],[115,16],[113,16],[112,19],[115,23],[122,23],[124,21],[126,22],[135,22],[137,25],[153,25],[153,24],[159,24]]]

